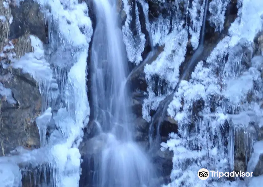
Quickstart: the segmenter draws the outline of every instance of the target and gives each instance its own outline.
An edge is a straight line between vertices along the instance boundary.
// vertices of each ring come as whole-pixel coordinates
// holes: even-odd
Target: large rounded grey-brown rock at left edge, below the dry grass
[[[40,139],[35,119],[41,112],[41,96],[37,83],[21,70],[0,69],[0,72],[0,81],[4,88],[10,91],[9,95],[0,93],[0,156],[9,154],[18,146],[39,147]]]

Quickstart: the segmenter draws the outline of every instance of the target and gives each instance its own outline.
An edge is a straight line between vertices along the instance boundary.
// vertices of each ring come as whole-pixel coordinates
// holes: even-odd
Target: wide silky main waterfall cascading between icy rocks
[[[154,170],[133,141],[132,113],[125,86],[128,74],[124,44],[120,40],[116,2],[95,0],[96,28],[91,48],[93,122],[98,136],[106,137],[96,157],[93,185],[100,187],[153,186]],[[157,185],[155,183],[155,185]]]

